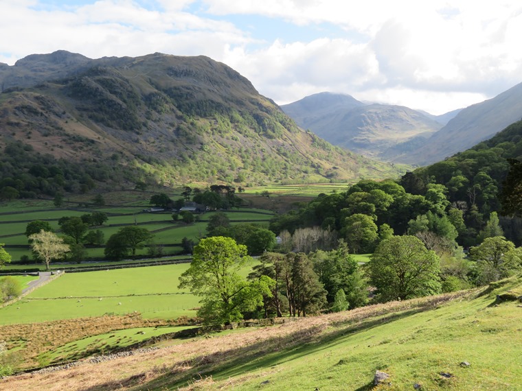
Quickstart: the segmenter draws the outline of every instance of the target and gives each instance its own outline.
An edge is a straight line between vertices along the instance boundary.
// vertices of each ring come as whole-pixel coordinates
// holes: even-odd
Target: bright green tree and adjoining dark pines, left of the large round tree
[[[247,278],[247,247],[230,237],[201,239],[180,288],[201,296],[198,316],[228,323],[244,316],[307,316],[324,309],[341,311],[367,301],[367,285],[342,244],[313,254],[265,252]]]

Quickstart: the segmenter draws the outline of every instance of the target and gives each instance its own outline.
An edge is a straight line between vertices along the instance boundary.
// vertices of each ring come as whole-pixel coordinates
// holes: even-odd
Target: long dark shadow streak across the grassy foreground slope
[[[272,337],[255,344],[220,351],[209,355],[199,355],[185,362],[176,362],[170,368],[151,368],[147,374],[133,375],[121,381],[111,381],[86,391],[105,391],[125,387],[136,390],[177,389],[191,383],[209,379],[219,381],[238,375],[245,375],[254,370],[269,369],[273,366],[291,362],[311,353],[317,353],[343,343],[345,337],[370,330],[389,322],[394,322],[415,313],[433,309],[431,305],[416,309],[407,309],[400,313],[389,313],[378,319],[355,320],[337,324],[337,330],[321,334],[324,325],[304,327],[284,337]],[[355,323],[355,324],[354,324]],[[274,326],[277,327],[277,326]],[[373,379],[376,368],[367,368],[368,376]],[[356,390],[371,389],[371,382]]]

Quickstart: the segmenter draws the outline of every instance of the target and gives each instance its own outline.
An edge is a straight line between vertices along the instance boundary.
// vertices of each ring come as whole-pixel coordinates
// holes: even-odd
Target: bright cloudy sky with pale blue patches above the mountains
[[[433,115],[522,82],[518,0],[0,0],[0,62],[205,55],[288,104],[324,91]]]

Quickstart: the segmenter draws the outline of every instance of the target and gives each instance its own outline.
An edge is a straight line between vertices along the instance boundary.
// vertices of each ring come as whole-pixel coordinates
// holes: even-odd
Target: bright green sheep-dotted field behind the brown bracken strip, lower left
[[[255,261],[252,261],[255,262]],[[242,271],[251,271],[249,263]],[[18,302],[0,309],[0,324],[133,313],[144,318],[175,319],[196,315],[198,298],[178,289],[179,276],[190,266],[150,266],[66,273]]]

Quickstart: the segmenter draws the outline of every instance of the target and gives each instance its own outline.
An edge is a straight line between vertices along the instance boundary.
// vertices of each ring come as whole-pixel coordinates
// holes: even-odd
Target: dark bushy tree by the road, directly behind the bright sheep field
[[[129,252],[135,256],[136,250],[144,248],[144,242],[151,238],[152,234],[146,228],[124,226],[109,237],[104,253],[106,257],[117,260],[123,259]]]

